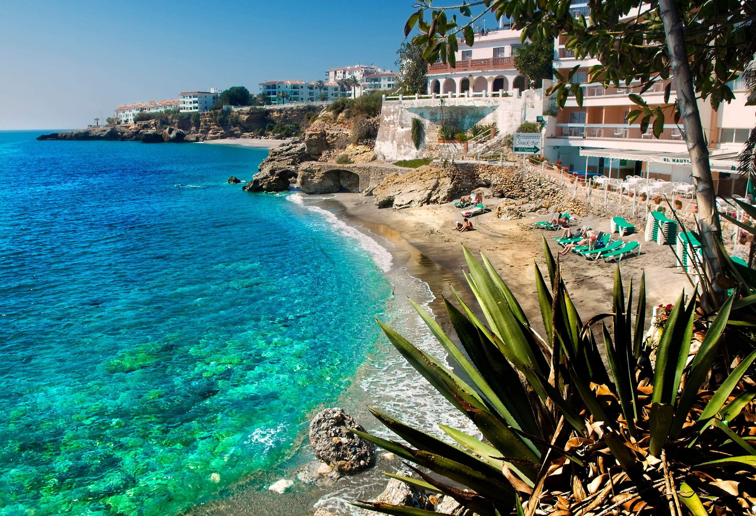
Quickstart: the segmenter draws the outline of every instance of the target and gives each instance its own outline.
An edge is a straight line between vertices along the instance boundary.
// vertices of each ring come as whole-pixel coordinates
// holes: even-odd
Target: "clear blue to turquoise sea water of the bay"
[[[225,184],[265,150],[36,135],[0,132],[0,514],[172,514],[289,456],[378,337],[381,264]]]

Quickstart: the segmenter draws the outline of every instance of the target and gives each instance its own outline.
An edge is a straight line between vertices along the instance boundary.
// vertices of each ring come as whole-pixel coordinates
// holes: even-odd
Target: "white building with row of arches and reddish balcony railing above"
[[[510,28],[504,17],[496,30],[476,32],[472,47],[459,42],[454,68],[448,63],[434,63],[428,68],[428,92],[480,93],[485,96],[503,91],[525,90],[527,80],[514,64],[517,48],[521,47],[519,30]]]

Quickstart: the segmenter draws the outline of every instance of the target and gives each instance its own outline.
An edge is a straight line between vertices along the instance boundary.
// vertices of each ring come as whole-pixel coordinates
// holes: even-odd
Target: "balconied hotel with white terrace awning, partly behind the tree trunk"
[[[573,0],[572,14],[587,15],[584,0]],[[628,94],[640,94],[633,83],[621,88],[603,88],[587,82],[587,71],[594,59],[575,59],[572,51],[564,48],[565,38],[555,41],[554,69],[566,76],[574,66],[579,66],[572,81],[581,83],[583,105],[578,107],[574,97],[569,97],[565,107],[556,116],[549,116],[545,131],[544,155],[551,161],[559,159],[562,166],[571,171],[624,178],[627,175],[643,175],[665,181],[692,182],[687,146],[681,127],[674,124],[671,110],[665,113],[664,130],[656,138],[649,127],[641,132],[636,122],[627,124],[627,113],[635,109]],[[669,103],[665,103],[665,88],[671,85]],[[711,155],[711,170],[717,193],[731,195],[742,193],[745,179],[734,173],[737,154],[754,126],[756,107],[745,106],[747,93],[742,81],[730,83],[736,99],[723,103],[713,110],[708,100],[699,100],[699,111],[705,137]],[[658,79],[648,91],[640,94],[651,106],[671,104],[676,99],[674,80]],[[556,112],[544,105],[547,112]]]

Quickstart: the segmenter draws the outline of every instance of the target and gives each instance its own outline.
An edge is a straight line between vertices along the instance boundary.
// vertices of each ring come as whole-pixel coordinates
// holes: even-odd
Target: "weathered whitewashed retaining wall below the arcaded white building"
[[[443,104],[442,104],[443,103]],[[541,91],[520,97],[460,97],[420,100],[386,100],[381,110],[375,152],[378,159],[397,161],[438,157],[438,128],[442,121],[466,130],[476,124],[496,123],[500,134],[513,133],[522,120],[543,112]],[[420,119],[425,138],[420,149],[412,143],[412,119]]]

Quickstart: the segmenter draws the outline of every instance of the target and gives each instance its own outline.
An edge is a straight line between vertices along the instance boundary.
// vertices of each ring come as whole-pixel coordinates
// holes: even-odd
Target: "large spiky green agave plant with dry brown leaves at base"
[[[483,439],[439,425],[448,436],[442,440],[371,408],[403,441],[355,434],[417,466],[408,465],[417,478],[389,476],[451,496],[481,516],[684,514],[683,506],[696,516],[752,514],[756,390],[745,373],[756,351],[723,352],[733,298],[706,320],[696,311],[696,295],[686,301],[683,293],[668,319],[647,332],[645,275],[633,307],[633,283],[625,295],[618,268],[611,309],[583,321],[544,239],[549,283],[535,266],[541,335],[485,255],[480,262],[463,252],[485,321],[457,292],[458,307],[445,300],[458,347],[414,304],[454,370],[381,326]],[[435,514],[354,504],[386,514]]]

